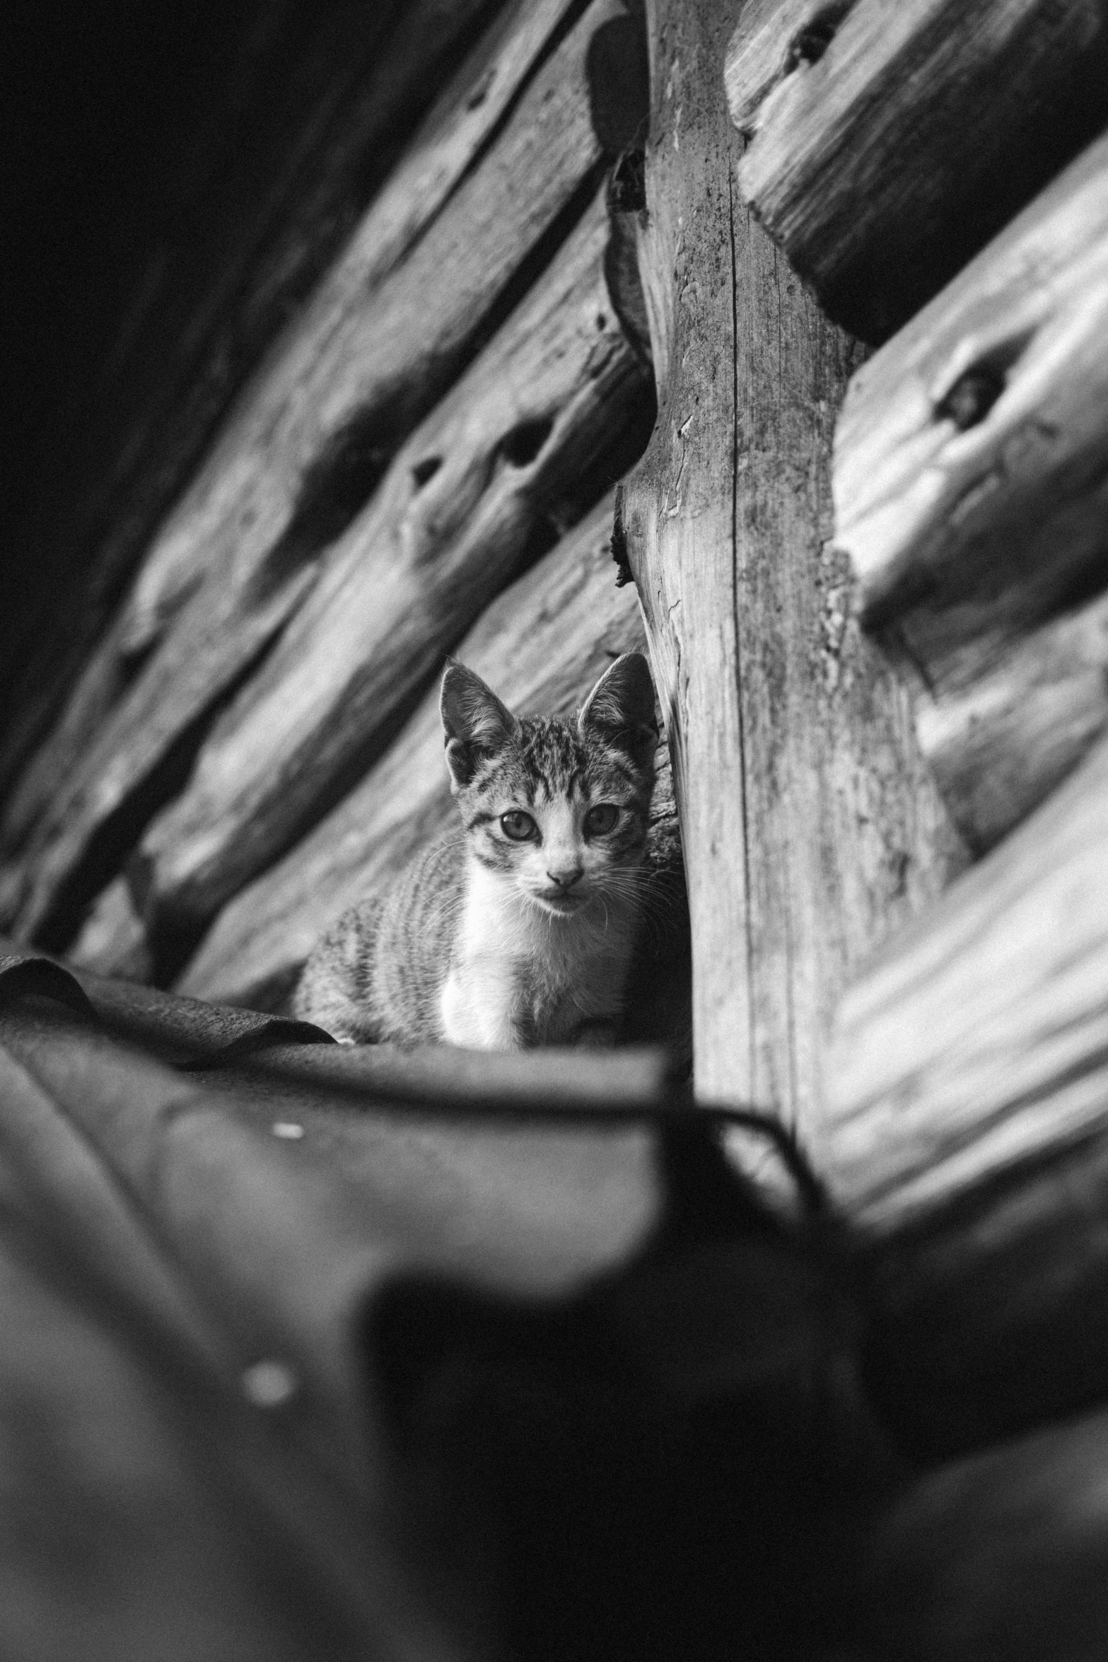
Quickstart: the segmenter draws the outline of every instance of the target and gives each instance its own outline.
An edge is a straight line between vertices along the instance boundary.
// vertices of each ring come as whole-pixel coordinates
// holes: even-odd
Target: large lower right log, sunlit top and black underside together
[[[812,1155],[879,1373],[967,1446],[1108,1389],[1108,741],[842,999]]]

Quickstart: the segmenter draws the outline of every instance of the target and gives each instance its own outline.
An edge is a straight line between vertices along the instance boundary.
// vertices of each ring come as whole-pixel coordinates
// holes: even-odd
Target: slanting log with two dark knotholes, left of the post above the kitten
[[[528,550],[641,445],[653,404],[608,302],[606,238],[598,199],[404,445],[148,828],[133,883],[154,934],[206,924],[326,813]]]

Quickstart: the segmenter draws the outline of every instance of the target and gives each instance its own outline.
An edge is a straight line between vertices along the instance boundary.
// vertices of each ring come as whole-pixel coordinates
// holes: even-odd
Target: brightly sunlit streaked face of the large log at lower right
[[[824,1172],[904,1225],[1105,1130],[1108,745],[851,987]]]

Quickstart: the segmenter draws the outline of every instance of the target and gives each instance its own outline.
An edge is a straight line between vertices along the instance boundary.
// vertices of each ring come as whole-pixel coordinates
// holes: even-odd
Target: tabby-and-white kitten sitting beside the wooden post
[[[460,663],[440,710],[462,834],[339,919],[304,967],[296,1015],[352,1044],[610,1040],[648,876],[646,660],[616,658],[576,721],[518,720]]]

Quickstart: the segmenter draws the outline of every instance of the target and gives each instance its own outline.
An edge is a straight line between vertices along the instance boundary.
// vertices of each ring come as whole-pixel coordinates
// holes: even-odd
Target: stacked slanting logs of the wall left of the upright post
[[[289,5],[254,35],[221,95],[236,121],[211,116],[223,171],[108,366],[113,417],[51,534],[66,580],[0,758],[3,927],[163,984],[341,808],[653,420],[605,279],[605,176],[646,115],[621,5]],[[281,116],[254,131],[262,103]],[[566,578],[586,593],[583,637],[547,663],[565,705],[606,661],[588,597],[608,607],[608,530]],[[545,590],[517,605],[525,640]],[[440,783],[419,733],[412,799]],[[301,939],[329,921],[321,892]],[[221,991],[287,991],[296,962],[279,986],[259,962],[239,951]]]

